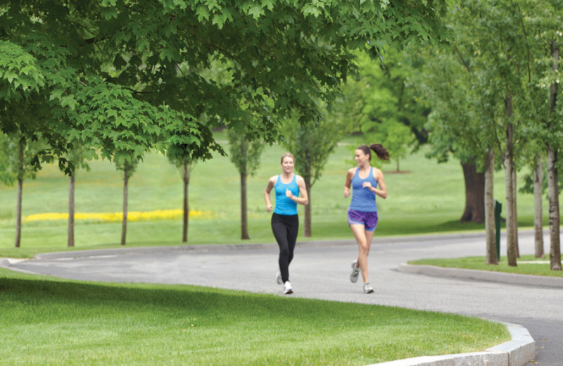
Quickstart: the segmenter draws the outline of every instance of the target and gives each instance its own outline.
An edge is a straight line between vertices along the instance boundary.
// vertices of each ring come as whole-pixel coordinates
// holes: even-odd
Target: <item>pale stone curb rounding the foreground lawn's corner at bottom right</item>
[[[483,352],[455,355],[422,356],[381,362],[369,366],[524,366],[536,357],[536,342],[528,329],[518,324],[506,324],[512,341]]]

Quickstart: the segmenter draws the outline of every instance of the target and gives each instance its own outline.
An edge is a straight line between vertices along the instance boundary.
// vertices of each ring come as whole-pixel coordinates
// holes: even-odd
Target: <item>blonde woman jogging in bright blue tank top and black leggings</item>
[[[266,212],[272,212],[270,192],[272,188],[276,194],[276,208],[272,214],[272,232],[279,246],[279,272],[276,275],[278,284],[284,284],[284,294],[293,293],[289,282],[289,263],[293,259],[293,249],[297,241],[299,230],[299,218],[297,216],[297,204],[309,203],[305,180],[303,177],[293,173],[295,158],[291,153],[281,156],[281,174],[274,175],[268,179],[264,191],[266,201]],[[301,194],[301,197],[299,195]]]

